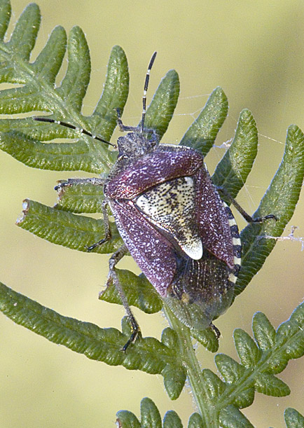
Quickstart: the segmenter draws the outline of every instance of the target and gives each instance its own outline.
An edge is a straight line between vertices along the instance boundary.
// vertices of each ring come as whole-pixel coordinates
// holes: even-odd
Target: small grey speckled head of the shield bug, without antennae
[[[126,158],[140,158],[153,152],[158,146],[158,140],[147,139],[141,132],[129,132],[117,140],[119,156]]]

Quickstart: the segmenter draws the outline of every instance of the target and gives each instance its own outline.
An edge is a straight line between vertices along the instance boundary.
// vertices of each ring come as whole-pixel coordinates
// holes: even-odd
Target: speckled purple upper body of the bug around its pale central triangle
[[[192,260],[172,237],[172,233],[153,223],[138,207],[140,195],[145,195],[149,189],[160,184],[170,185],[179,177],[191,177],[193,180],[195,209],[191,221],[198,229],[204,255],[208,254],[208,262],[206,256],[201,260]],[[200,153],[187,147],[167,144],[160,144],[141,156],[128,157],[122,153],[106,180],[104,194],[127,249],[160,296],[166,297],[168,289],[184,278],[190,284],[195,280],[196,285],[189,287],[192,287],[192,291],[195,287],[201,290],[200,299],[212,301],[215,286],[214,282],[210,285],[208,275],[212,275],[210,263],[214,261],[221,263],[223,272],[223,278],[218,281],[222,284],[219,284],[216,294],[226,291],[228,275],[234,268],[233,238],[223,202],[212,184]],[[210,258],[212,262],[209,263]],[[190,278],[189,272],[193,272]]]

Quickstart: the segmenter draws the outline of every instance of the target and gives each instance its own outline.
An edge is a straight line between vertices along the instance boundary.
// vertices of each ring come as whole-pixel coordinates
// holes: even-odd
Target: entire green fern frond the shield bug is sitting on
[[[24,118],[0,120],[0,149],[25,165],[49,170],[83,170],[102,173],[111,170],[116,153],[106,144],[77,130],[56,124],[34,122],[32,116],[47,114],[54,120],[64,120],[111,139],[117,123],[116,109],[123,111],[127,100],[129,74],[123,49],[115,46],[111,52],[102,95],[90,116],[81,113],[83,98],[90,81],[90,53],[79,27],[71,29],[69,38],[62,27],[56,27],[36,60],[30,62],[39,31],[41,15],[36,4],[30,4],[15,25],[11,38],[4,41],[11,18],[11,5],[0,4],[0,82],[12,88],[0,92],[0,113],[23,113]],[[8,37],[6,37],[8,39]],[[56,78],[67,53],[68,67],[62,83]],[[163,136],[174,113],[179,97],[179,77],[170,70],[146,113],[146,126]],[[214,144],[228,113],[228,101],[221,88],[210,95],[181,144],[194,147],[204,155]],[[31,117],[30,117],[31,116]],[[53,139],[68,142],[50,142]],[[234,197],[248,177],[256,158],[258,133],[256,123],[247,109],[240,113],[237,130],[212,180]],[[247,287],[275,246],[296,207],[304,175],[304,136],[296,125],[289,127],[284,158],[270,188],[254,216],[275,214],[277,221],[247,226],[242,231],[243,262],[235,295]],[[45,240],[71,249],[86,251],[88,245],[104,235],[102,220],[81,216],[102,209],[102,186],[80,183],[62,187],[55,207],[25,200],[18,226]],[[112,240],[94,251],[110,253],[122,244],[118,230],[111,223]],[[118,270],[120,283],[131,305],[148,313],[158,312],[163,301],[142,275]],[[121,303],[113,284],[100,296],[110,303]],[[191,415],[188,427],[252,427],[240,409],[250,406],[256,392],[272,396],[289,394],[289,387],[276,377],[289,359],[304,354],[303,312],[300,305],[291,318],[275,331],[265,315],[254,316],[254,339],[241,329],[235,330],[235,347],[240,361],[225,354],[215,357],[221,378],[210,370],[201,370],[193,350],[192,338],[216,352],[219,343],[211,328],[192,331],[181,324],[164,305],[172,328],[165,329],[161,341],[139,338],[134,346],[121,352],[130,326],[123,319],[122,331],[100,329],[94,324],[59,315],[26,296],[1,284],[0,309],[15,323],[38,333],[54,343],[60,343],[90,359],[110,365],[122,365],[130,370],[161,374],[171,399],[177,399],[184,387],[186,375],[193,390],[200,414]],[[294,409],[287,409],[287,427],[298,427],[303,421]],[[153,401],[141,402],[141,422],[130,412],[118,413],[121,427],[181,427],[177,413],[166,413],[163,421]]]

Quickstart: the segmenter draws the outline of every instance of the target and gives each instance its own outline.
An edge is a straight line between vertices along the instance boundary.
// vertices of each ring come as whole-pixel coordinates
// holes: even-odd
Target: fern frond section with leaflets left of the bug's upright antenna
[[[29,62],[41,21],[39,7],[36,4],[27,6],[6,43],[8,12],[4,16],[0,61],[5,67],[1,68],[0,81],[21,86],[0,92],[0,112],[48,112],[51,118],[75,123],[109,140],[116,127],[116,109],[123,111],[127,100],[129,74],[123,50],[119,46],[113,48],[102,96],[92,115],[85,117],[81,107],[90,81],[90,52],[83,31],[74,27],[67,41],[64,29],[56,27],[36,60]],[[57,87],[55,79],[66,49],[69,65]],[[100,141],[79,138],[75,132],[58,125],[33,123],[32,118],[1,120],[0,130],[1,149],[32,167],[100,173],[108,172],[115,159]],[[65,137],[76,141],[69,144],[42,142]]]

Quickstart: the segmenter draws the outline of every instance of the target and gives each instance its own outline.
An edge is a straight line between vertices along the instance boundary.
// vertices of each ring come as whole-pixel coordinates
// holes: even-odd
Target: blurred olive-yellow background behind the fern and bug
[[[13,22],[27,6],[13,0]],[[90,114],[99,99],[111,48],[125,49],[130,66],[130,96],[124,123],[135,125],[141,115],[141,96],[148,60],[158,57],[151,74],[148,100],[160,78],[177,69],[181,99],[163,141],[176,143],[221,85],[228,96],[229,116],[216,144],[233,137],[240,111],[247,107],[256,118],[259,154],[238,201],[254,212],[284,151],[286,128],[304,128],[304,4],[303,1],[197,0],[197,1],[75,1],[40,0],[43,21],[33,58],[55,25],[67,31],[79,25],[85,32],[92,57],[92,78],[83,112]],[[66,67],[66,62],[64,64]],[[63,74],[61,74],[62,78]],[[118,132],[114,134],[116,138]],[[207,156],[210,172],[223,149]],[[31,198],[53,205],[57,179],[85,177],[81,172],[49,172],[25,167],[0,153],[1,179],[1,281],[62,315],[120,328],[123,308],[98,301],[106,279],[107,256],[84,254],[43,241],[14,225],[22,200]],[[87,174],[88,175],[88,174]],[[304,236],[304,195],[291,225]],[[240,226],[244,221],[237,216]],[[299,242],[278,242],[246,291],[217,322],[222,333],[219,351],[236,357],[232,333],[241,327],[251,333],[251,318],[261,310],[277,327],[303,299],[303,256]],[[121,267],[139,272],[127,258]],[[134,310],[144,336],[156,336],[167,322],[162,315]],[[162,416],[177,410],[185,426],[195,410],[185,388],[170,401],[161,376],[127,371],[90,361],[49,343],[46,339],[0,317],[0,426],[113,427],[116,411],[131,410],[139,416],[144,396],[156,402]],[[215,370],[214,355],[199,349],[202,367]],[[277,399],[256,394],[244,414],[256,427],[284,427],[284,408],[304,413],[304,359],[293,360],[279,375],[291,395]]]

